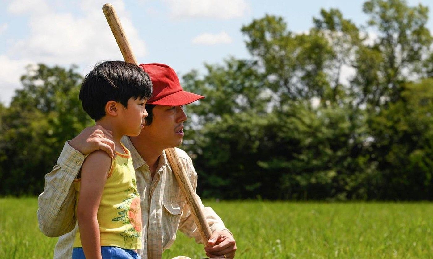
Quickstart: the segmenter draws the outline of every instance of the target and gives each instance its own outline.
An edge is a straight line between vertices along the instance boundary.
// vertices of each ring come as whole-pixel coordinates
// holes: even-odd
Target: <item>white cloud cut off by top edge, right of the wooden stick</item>
[[[242,17],[249,6],[245,0],[165,0],[174,18],[211,17],[230,19]]]

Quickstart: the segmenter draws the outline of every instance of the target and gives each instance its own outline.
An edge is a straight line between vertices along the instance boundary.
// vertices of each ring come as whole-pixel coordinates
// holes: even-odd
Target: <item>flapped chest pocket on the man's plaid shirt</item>
[[[176,239],[176,232],[178,231],[179,222],[181,221],[184,205],[185,201],[164,201],[161,219],[164,233],[162,247],[164,249],[168,249]]]

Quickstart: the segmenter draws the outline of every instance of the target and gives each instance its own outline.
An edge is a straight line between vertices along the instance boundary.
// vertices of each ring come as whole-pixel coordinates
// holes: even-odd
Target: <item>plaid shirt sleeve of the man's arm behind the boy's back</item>
[[[65,143],[57,164],[45,175],[45,188],[38,197],[39,229],[48,237],[59,237],[75,227],[74,179],[84,156],[68,142]]]

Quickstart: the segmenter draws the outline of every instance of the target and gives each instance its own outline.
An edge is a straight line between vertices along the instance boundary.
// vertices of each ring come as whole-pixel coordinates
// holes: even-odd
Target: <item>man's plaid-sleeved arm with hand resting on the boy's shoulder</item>
[[[59,237],[74,229],[75,190],[73,181],[84,161],[84,155],[101,149],[113,156],[111,131],[100,126],[85,128],[66,142],[57,165],[45,175],[44,192],[38,198],[39,229],[48,237]]]

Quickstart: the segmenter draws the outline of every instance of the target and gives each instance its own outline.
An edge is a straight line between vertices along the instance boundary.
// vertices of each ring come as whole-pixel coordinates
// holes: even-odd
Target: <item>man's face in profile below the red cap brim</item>
[[[184,121],[187,120],[182,106],[157,105],[152,113],[152,123],[142,129],[142,134],[162,148],[177,147],[182,144]]]

